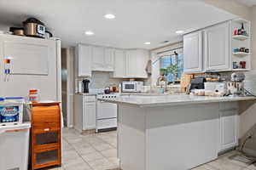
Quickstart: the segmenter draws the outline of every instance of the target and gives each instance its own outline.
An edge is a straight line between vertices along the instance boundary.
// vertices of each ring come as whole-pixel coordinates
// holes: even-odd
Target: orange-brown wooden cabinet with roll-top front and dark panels
[[[32,104],[32,170],[61,166],[60,103]]]

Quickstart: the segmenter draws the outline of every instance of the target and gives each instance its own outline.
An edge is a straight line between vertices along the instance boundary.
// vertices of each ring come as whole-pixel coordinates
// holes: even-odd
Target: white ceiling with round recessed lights
[[[116,18],[103,18],[108,13]],[[235,17],[201,0],[0,0],[0,25],[20,25],[31,16],[61,37],[63,46],[84,42],[115,48],[156,48],[181,40],[177,30],[194,31]],[[95,35],[85,36],[88,30]]]

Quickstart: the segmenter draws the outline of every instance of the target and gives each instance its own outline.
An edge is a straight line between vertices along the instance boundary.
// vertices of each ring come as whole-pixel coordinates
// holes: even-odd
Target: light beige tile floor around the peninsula
[[[50,170],[107,170],[119,167],[117,158],[117,133],[79,134],[74,129],[63,130],[62,167]],[[193,170],[256,170],[256,164],[248,166],[230,160],[237,151],[231,151]],[[173,169],[176,170],[176,169]]]

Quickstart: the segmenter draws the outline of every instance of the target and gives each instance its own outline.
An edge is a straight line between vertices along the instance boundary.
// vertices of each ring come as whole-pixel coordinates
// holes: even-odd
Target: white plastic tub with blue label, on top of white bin
[[[0,126],[18,125],[23,121],[23,98],[6,98],[0,102]]]

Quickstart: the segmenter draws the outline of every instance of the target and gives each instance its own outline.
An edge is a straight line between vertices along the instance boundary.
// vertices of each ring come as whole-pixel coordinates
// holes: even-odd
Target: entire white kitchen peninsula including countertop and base
[[[239,101],[254,97],[123,95],[118,155],[124,170],[186,170],[238,145]]]

